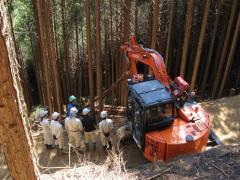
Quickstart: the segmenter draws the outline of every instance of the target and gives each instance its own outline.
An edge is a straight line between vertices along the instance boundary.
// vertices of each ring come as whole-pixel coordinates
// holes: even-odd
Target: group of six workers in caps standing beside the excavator
[[[78,116],[78,109],[76,107],[75,96],[69,97],[69,104],[67,105],[67,117],[64,120],[64,127],[68,135],[69,145],[77,148],[80,152],[89,149],[90,143],[93,148],[96,148],[96,119],[91,116],[91,109],[83,108],[81,116]],[[51,118],[48,118],[48,111],[41,110],[39,112],[40,124],[43,130],[44,144],[47,149],[52,149],[58,146],[60,152],[64,148],[64,130],[61,121],[61,115],[54,112]],[[113,123],[108,119],[107,111],[100,113],[101,121],[98,124],[100,139],[104,149],[112,148],[111,132]]]

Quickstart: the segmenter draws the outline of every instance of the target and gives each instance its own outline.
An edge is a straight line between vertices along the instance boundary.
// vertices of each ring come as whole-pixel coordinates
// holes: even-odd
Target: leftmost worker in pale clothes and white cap
[[[50,120],[47,118],[47,116],[48,116],[48,111],[41,110],[39,112],[39,117],[41,120],[40,124],[43,130],[44,145],[46,146],[47,149],[51,149],[53,144],[53,137],[50,130]]]

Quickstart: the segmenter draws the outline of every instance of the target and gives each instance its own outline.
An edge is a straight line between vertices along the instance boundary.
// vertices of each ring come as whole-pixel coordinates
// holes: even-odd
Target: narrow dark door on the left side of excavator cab
[[[132,135],[140,149],[143,149],[144,142],[143,117],[143,110],[136,101],[133,101]]]

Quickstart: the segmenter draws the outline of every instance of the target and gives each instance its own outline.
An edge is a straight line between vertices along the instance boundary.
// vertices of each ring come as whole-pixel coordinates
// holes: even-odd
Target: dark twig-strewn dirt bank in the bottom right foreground
[[[169,163],[145,164],[138,170],[138,179],[240,179],[239,150],[239,146],[221,145]]]

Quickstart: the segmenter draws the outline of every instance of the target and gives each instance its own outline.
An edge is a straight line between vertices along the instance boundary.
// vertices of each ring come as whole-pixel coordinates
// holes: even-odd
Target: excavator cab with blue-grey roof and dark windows
[[[144,149],[144,134],[170,126],[175,116],[175,97],[158,80],[128,84],[127,118],[132,136]]]

